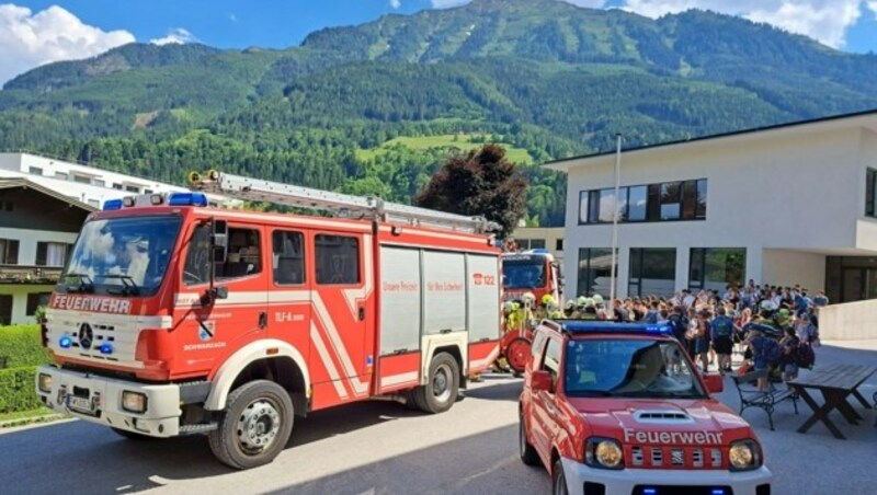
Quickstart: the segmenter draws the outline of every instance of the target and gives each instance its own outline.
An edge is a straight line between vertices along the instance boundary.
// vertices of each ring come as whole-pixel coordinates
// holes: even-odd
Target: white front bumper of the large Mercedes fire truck
[[[52,377],[49,392],[39,390],[41,373]],[[42,366],[36,372],[35,387],[43,403],[59,413],[151,437],[180,434],[180,387],[173,383],[145,384]],[[122,408],[123,391],[146,395],[146,411],[133,413]],[[79,398],[79,407],[70,406],[69,396]],[[88,407],[83,406],[83,400]]]

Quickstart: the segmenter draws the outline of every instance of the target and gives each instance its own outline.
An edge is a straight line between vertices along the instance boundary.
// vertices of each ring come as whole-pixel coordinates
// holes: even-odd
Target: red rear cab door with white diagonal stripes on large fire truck
[[[374,365],[372,235],[315,231],[310,365],[314,407],[371,394]],[[319,380],[319,381],[318,381]]]

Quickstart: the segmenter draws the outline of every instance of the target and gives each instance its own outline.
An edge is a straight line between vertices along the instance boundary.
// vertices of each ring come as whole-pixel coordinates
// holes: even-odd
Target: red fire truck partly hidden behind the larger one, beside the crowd
[[[537,304],[546,295],[551,296],[557,304],[562,303],[560,264],[545,250],[502,253],[502,297],[506,301],[531,292]]]

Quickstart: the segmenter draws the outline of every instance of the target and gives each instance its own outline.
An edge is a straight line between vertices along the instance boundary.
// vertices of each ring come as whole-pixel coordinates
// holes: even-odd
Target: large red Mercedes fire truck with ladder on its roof
[[[42,401],[125,437],[206,434],[247,469],[295,416],[371,398],[449,408],[496,359],[481,218],[210,172],[92,214],[43,327]],[[205,193],[334,218],[207,206]],[[344,217],[344,218],[339,218]]]

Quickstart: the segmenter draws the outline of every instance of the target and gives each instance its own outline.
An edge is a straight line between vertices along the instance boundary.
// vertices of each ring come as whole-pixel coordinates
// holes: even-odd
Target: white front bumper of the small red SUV
[[[730,472],[721,470],[659,470],[659,469],[624,469],[612,471],[589,468],[571,459],[561,459],[567,490],[571,494],[584,493],[584,483],[599,483],[605,486],[605,494],[630,494],[636,486],[654,487],[661,493],[661,486],[690,486],[714,488],[728,486],[734,495],[755,495],[761,485],[771,484],[771,470],[761,467],[754,471]],[[767,492],[770,493],[770,492]]]

